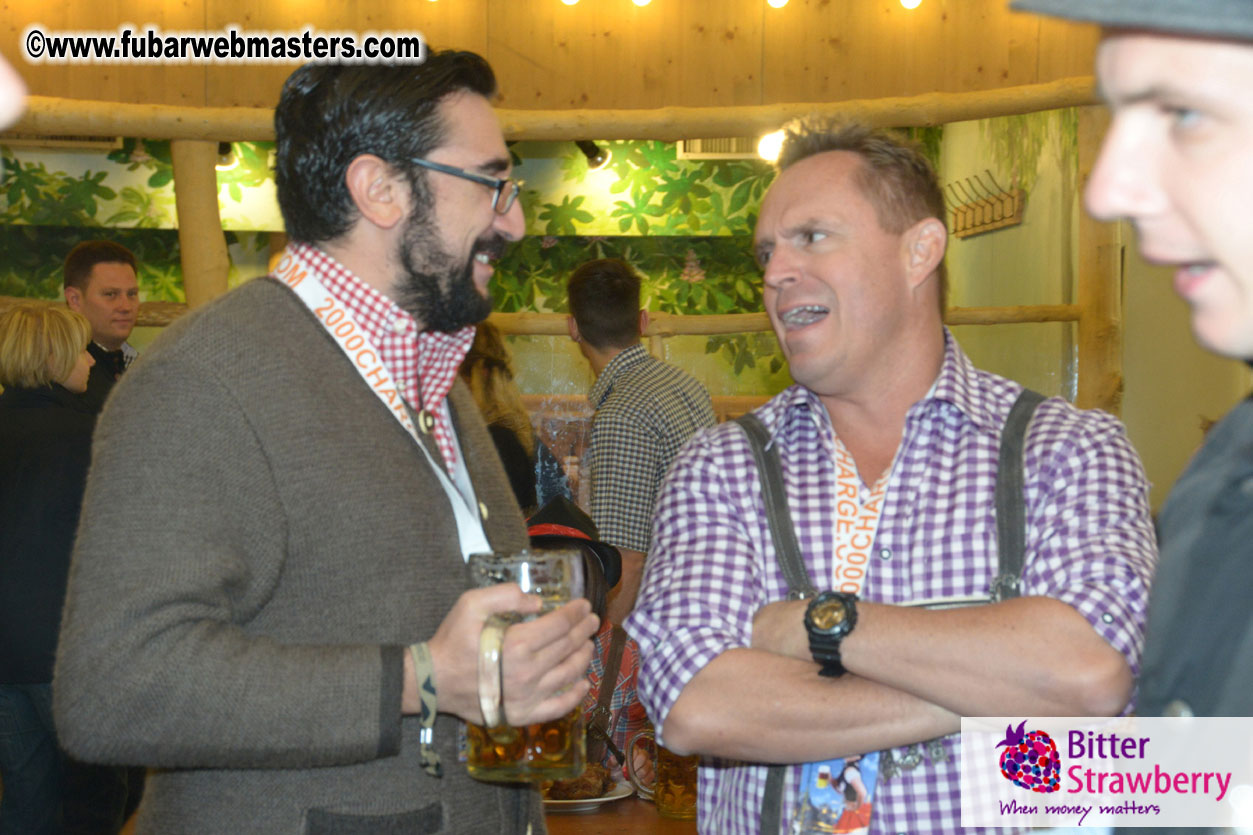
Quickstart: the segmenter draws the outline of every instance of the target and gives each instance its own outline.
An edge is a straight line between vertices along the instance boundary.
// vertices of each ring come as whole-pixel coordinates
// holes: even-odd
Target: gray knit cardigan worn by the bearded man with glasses
[[[526,533],[474,401],[450,402],[487,537]],[[402,647],[466,588],[421,450],[286,287],[185,316],[95,435],[54,681],[76,757],[157,769],[139,832],[544,831],[538,795],[440,780],[401,718]]]

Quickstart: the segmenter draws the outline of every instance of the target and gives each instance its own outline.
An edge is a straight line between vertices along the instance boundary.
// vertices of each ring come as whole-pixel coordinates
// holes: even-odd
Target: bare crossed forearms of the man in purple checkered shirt
[[[804,606],[763,607],[752,647],[723,652],[688,682],[667,716],[667,746],[809,761],[955,733],[964,715],[1118,713],[1131,695],[1121,653],[1055,599],[940,612],[862,603],[841,678],[817,675]],[[1051,639],[1025,641],[1039,634]]]

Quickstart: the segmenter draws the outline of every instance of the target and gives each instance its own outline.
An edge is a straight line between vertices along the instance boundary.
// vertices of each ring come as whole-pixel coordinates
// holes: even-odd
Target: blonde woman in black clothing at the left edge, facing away
[[[91,453],[91,327],[59,305],[0,311],[0,832],[60,831],[53,654]]]

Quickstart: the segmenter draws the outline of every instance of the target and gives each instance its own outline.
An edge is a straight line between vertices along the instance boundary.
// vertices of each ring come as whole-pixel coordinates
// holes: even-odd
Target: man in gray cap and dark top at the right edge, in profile
[[[1130,221],[1144,258],[1175,268],[1203,347],[1253,360],[1253,3],[1012,6],[1105,26],[1096,73],[1113,122],[1088,209]],[[1209,431],[1159,535],[1138,712],[1253,715],[1253,399]]]

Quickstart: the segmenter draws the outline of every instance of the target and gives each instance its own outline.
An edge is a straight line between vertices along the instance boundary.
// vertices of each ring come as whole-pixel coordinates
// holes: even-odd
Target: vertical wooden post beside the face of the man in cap
[[[1109,127],[1105,108],[1079,109],[1079,187],[1088,188]],[[1079,389],[1075,405],[1123,410],[1123,255],[1118,224],[1079,217]]]

